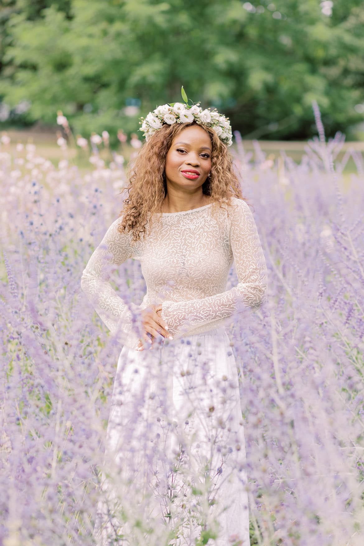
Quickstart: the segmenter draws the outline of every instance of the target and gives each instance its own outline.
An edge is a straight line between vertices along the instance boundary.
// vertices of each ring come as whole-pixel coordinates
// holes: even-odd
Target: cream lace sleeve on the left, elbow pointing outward
[[[138,346],[139,336],[133,328],[132,313],[139,306],[133,303],[128,306],[108,282],[111,272],[132,257],[129,235],[118,232],[119,222],[118,218],[110,225],[88,260],[82,272],[81,288],[112,334],[117,335],[122,345],[134,349]]]

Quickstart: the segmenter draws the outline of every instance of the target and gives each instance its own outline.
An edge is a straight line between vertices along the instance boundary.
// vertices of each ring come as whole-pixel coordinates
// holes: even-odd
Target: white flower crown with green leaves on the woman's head
[[[190,123],[195,120],[199,125],[211,127],[226,146],[231,146],[232,133],[229,118],[221,116],[216,108],[212,111],[210,111],[210,108],[202,110],[200,103],[187,104],[188,98],[183,86],[181,94],[186,104],[163,104],[162,106],[157,106],[152,112],[149,112],[146,118],[139,118],[141,120],[139,122],[141,124],[139,130],[144,132],[143,136],[145,136],[145,140],[150,139],[163,124]]]

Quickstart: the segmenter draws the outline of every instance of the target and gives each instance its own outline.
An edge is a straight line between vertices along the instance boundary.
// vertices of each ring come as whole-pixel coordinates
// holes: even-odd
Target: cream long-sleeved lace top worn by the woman
[[[113,222],[83,270],[81,287],[100,318],[122,345],[135,349],[140,339],[138,311],[162,304],[162,318],[174,337],[217,328],[235,313],[258,307],[267,298],[267,270],[252,211],[231,199],[153,219],[151,233],[133,242]],[[127,305],[109,283],[128,258],[141,262],[146,294]],[[235,263],[238,284],[226,290]]]

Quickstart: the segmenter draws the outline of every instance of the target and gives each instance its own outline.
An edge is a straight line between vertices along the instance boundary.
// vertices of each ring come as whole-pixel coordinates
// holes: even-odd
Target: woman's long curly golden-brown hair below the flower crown
[[[164,124],[141,147],[134,164],[129,170],[128,197],[123,200],[124,207],[119,217],[123,216],[118,225],[120,233],[132,232],[133,241],[138,241],[149,222],[152,225],[153,215],[162,211],[162,204],[167,193],[165,180],[166,156],[172,141],[183,129],[196,124],[174,123]],[[235,173],[232,157],[227,146],[219,139],[213,129],[199,124],[211,138],[211,171],[202,185],[202,192],[210,195],[213,203],[231,205],[231,197],[244,199],[240,183]],[[150,214],[150,216],[149,216]]]

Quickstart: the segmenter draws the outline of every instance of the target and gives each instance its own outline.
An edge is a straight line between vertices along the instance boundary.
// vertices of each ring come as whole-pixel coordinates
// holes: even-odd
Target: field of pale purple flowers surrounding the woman
[[[268,269],[267,305],[228,328],[252,545],[364,543],[364,162],[355,151],[338,161],[344,136],[325,141],[317,108],[315,117],[319,136],[300,164],[284,152],[273,163],[258,141],[247,153],[239,134],[232,146]],[[2,546],[94,544],[121,346],[80,278],[122,209],[126,173],[93,140],[87,173],[67,159],[54,167],[33,145],[0,147]],[[349,158],[356,172],[344,177]],[[232,269],[227,289],[236,282]],[[111,283],[140,304],[139,262],[122,264]],[[191,488],[184,502],[198,496]],[[130,520],[136,538],[123,544],[175,546],[179,518],[155,528]],[[191,544],[213,544],[213,522],[210,531]]]

